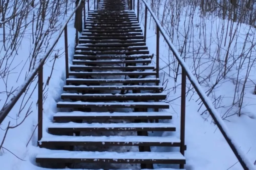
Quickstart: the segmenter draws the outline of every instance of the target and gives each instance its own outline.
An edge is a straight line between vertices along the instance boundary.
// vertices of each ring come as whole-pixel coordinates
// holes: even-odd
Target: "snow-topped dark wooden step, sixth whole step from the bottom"
[[[62,93],[61,99],[77,99],[89,101],[124,101],[124,100],[164,100],[165,93],[127,93],[127,94],[77,94],[77,93]]]

